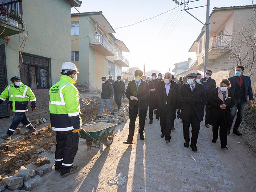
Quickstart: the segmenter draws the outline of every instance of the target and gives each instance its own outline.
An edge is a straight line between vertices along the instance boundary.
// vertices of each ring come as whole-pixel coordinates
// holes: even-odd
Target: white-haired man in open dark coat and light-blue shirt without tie
[[[160,117],[161,137],[165,137],[165,142],[170,143],[171,130],[174,124],[175,114],[179,106],[177,96],[179,86],[172,81],[172,74],[165,73],[164,81],[160,81],[155,86],[154,108],[157,109],[156,118]]]

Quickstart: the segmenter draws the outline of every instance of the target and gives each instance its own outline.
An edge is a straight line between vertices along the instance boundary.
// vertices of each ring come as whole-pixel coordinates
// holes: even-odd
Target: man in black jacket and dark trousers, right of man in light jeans
[[[121,109],[121,99],[122,99],[122,96],[124,98],[125,84],[121,80],[120,75],[117,76],[117,80],[114,82],[113,88],[114,88],[114,92],[115,92],[115,102],[117,104],[117,108]]]

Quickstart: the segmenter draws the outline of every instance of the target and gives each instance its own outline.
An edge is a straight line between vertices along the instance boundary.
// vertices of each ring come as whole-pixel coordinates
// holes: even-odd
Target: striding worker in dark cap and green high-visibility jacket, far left
[[[20,77],[12,77],[11,81],[12,84],[7,86],[0,95],[0,105],[9,97],[10,108],[15,113],[13,123],[8,129],[6,135],[0,137],[5,140],[11,139],[12,134],[20,123],[29,129],[25,134],[31,134],[36,131],[25,115],[25,112],[28,111],[27,103],[29,99],[31,101],[32,111],[36,109],[35,95],[28,86],[21,82]]]

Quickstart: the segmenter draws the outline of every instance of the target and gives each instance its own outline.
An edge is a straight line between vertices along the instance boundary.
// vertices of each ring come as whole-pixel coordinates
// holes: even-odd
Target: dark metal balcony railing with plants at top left
[[[2,0],[0,2],[2,2],[0,4],[0,20],[15,26],[20,24],[21,28],[23,28],[22,0]]]

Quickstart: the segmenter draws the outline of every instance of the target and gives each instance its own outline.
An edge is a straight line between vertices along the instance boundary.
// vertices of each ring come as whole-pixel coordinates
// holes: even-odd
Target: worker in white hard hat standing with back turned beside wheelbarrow
[[[61,80],[50,89],[50,119],[56,134],[55,173],[61,177],[79,170],[73,166],[78,149],[78,132],[82,126],[78,90],[74,86],[79,73],[74,63],[64,62]]]

